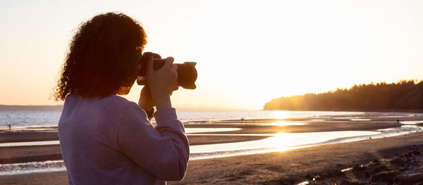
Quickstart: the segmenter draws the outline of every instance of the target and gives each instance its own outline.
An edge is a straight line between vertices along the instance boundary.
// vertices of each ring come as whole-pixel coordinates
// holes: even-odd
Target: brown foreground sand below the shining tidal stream
[[[183,181],[168,184],[295,184],[317,175],[324,177],[355,165],[392,158],[395,153],[408,151],[410,147],[422,150],[423,133],[277,153],[194,160],[190,161]],[[330,179],[339,178],[326,177],[326,182]],[[67,181],[66,172],[0,176],[0,184],[67,184]]]

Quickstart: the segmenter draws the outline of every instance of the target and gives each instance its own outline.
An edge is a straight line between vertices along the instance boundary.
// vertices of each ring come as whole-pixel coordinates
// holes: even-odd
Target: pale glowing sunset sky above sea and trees
[[[262,109],[272,98],[370,82],[423,79],[423,1],[0,0],[0,104],[51,98],[78,25],[121,12],[145,51],[197,62],[178,108]],[[137,102],[134,85],[124,96]]]

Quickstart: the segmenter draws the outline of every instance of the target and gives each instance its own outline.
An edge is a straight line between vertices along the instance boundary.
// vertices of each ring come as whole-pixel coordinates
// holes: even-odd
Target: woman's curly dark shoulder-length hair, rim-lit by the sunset
[[[71,40],[54,100],[68,94],[106,97],[128,94],[147,36],[137,21],[123,13],[96,15],[80,25]]]

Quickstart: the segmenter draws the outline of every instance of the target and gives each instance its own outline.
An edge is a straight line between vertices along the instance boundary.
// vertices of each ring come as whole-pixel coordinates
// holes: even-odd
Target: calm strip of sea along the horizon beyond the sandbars
[[[183,122],[364,114],[362,112],[285,110],[177,110],[177,113],[178,118]],[[0,110],[0,127],[8,127],[8,125],[12,127],[56,126],[60,116],[61,110]]]

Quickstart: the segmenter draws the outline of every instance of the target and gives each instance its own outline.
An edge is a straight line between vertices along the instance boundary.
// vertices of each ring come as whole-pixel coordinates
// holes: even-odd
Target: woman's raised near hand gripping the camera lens
[[[159,70],[153,69],[153,58],[147,60],[147,87],[157,110],[171,107],[171,94],[178,89],[177,67],[173,58],[166,58],[166,63]],[[141,99],[141,97],[140,97]]]

